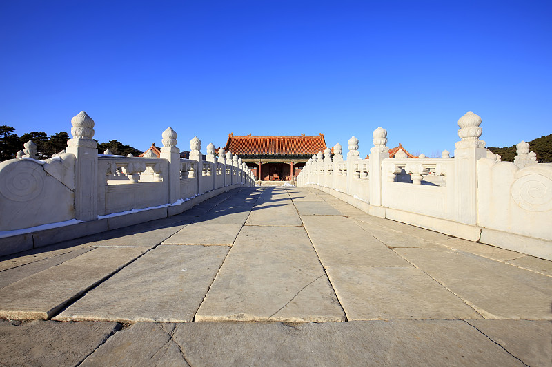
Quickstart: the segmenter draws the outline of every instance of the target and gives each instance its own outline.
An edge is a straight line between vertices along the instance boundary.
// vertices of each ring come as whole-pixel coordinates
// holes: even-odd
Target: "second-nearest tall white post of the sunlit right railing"
[[[389,158],[389,148],[387,144],[387,130],[383,127],[377,127],[372,132],[372,143],[374,147],[370,149],[370,159],[368,165],[370,169],[368,175],[370,177],[370,204],[382,206],[382,180],[388,180],[388,174],[382,172],[382,162],[385,158]]]

